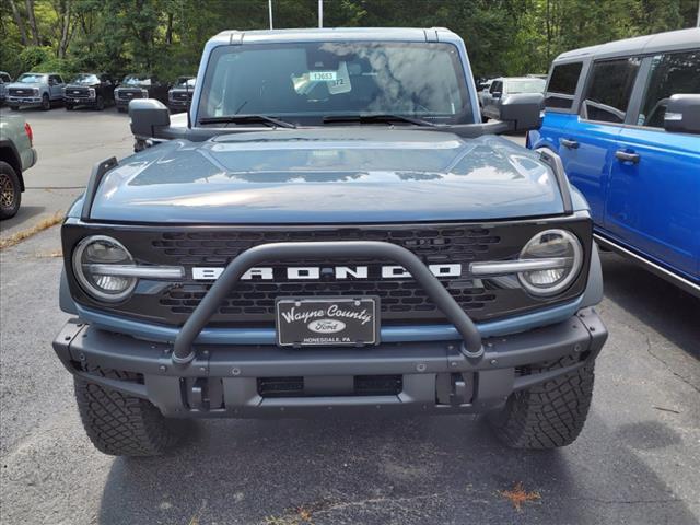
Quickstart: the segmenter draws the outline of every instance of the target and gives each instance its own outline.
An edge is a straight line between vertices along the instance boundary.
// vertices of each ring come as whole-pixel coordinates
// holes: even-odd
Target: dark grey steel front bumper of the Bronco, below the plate
[[[198,345],[185,366],[173,346],[107,332],[79,319],[54,341],[74,375],[149,399],[171,417],[300,417],[345,411],[487,412],[513,392],[572,372],[594,360],[607,330],[592,308],[570,319],[508,337],[483,339],[478,359],[460,341],[382,343],[345,349]],[[565,366],[547,368],[565,358]],[[117,381],[106,370],[138,374]],[[133,376],[131,374],[131,376]],[[400,390],[357,395],[357,378],[390,376]],[[266,396],[260,381],[298,378],[302,389]]]

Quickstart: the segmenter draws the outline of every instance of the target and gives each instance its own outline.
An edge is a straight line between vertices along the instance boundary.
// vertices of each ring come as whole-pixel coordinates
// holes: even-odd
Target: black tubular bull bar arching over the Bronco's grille
[[[385,258],[397,262],[423,288],[435,306],[455,326],[462,336],[462,352],[469,359],[480,359],[483,355],[481,335],[474,322],[416,254],[402,246],[380,241],[339,241],[270,243],[243,252],[226,266],[225,270],[195,308],[195,312],[183,325],[175,338],[173,363],[184,366],[195,359],[195,340],[248,269],[266,260],[313,257],[339,259],[372,257]]]

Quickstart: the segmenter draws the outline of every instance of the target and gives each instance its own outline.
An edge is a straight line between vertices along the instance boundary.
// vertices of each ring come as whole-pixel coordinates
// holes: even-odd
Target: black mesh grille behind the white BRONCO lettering
[[[337,241],[337,232],[190,232],[164,233],[153,241],[154,249],[179,264],[191,266],[225,265],[233,257],[257,244],[272,242]],[[430,230],[353,230],[342,234],[343,241],[388,241],[409,248],[427,264],[460,262],[466,269],[468,262],[489,252],[500,242],[498,235],[488,229],[430,229]],[[300,261],[301,264],[301,261]],[[300,264],[280,264],[271,261],[261,266],[272,267],[276,276],[284,276],[290,266]],[[332,268],[338,260],[307,259],[303,265]],[[323,295],[378,295],[381,298],[382,318],[400,319],[407,317],[431,318],[441,315],[423,289],[412,279],[385,280],[380,276],[383,265],[389,260],[354,259],[342,261],[348,266],[368,266],[374,270],[369,279],[338,281],[243,281],[220,306],[221,316],[236,319],[272,320],[275,299],[278,296],[323,296]],[[483,288],[475,288],[466,279],[445,280],[450,293],[466,310],[475,312],[495,300],[495,294]],[[173,314],[191,314],[205,296],[211,284],[190,281],[182,288],[167,290],[160,304]]]

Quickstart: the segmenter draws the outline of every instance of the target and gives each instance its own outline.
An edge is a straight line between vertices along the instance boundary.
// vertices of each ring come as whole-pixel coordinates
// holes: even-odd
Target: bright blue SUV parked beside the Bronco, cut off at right
[[[700,296],[700,28],[560,55],[529,148],[561,159],[595,238]]]

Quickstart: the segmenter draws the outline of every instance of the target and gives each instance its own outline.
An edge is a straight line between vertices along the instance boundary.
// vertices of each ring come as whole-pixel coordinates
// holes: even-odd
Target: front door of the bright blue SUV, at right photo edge
[[[638,126],[621,130],[605,228],[676,271],[699,278],[700,136],[663,129],[665,102],[700,93],[700,50],[651,57]]]

